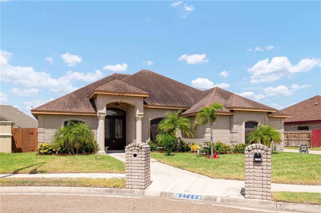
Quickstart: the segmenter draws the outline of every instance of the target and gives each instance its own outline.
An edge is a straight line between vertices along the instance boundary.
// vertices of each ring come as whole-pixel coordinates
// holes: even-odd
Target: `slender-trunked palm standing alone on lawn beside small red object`
[[[197,130],[198,126],[204,126],[210,124],[211,127],[211,158],[213,158],[213,123],[219,119],[216,110],[223,110],[223,105],[221,103],[215,102],[211,106],[202,107],[197,113],[194,121],[193,131]]]

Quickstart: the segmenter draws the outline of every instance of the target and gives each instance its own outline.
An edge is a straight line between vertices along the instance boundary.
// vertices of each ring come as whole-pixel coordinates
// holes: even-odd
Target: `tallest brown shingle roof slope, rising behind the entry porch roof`
[[[150,70],[140,70],[121,81],[149,93],[144,99],[147,105],[190,107],[201,93],[201,90]]]

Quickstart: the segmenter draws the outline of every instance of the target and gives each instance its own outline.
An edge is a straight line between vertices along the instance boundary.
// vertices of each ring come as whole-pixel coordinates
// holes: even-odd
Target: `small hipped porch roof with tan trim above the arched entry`
[[[143,90],[140,90],[134,86],[130,86],[120,80],[113,80],[103,86],[96,88],[90,95],[89,99],[94,99],[97,94],[119,94],[123,93],[128,96],[141,96],[148,97],[149,94]]]

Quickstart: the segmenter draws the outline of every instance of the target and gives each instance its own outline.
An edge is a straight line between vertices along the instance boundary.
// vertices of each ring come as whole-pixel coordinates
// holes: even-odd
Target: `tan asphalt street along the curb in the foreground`
[[[200,201],[151,197],[2,194],[0,212],[237,212],[254,213]]]

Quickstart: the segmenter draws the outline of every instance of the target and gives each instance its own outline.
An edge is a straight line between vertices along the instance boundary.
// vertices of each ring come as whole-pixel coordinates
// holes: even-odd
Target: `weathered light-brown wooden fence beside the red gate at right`
[[[307,143],[311,146],[311,132],[284,132],[284,146],[301,146]]]

